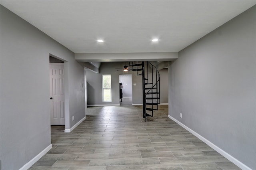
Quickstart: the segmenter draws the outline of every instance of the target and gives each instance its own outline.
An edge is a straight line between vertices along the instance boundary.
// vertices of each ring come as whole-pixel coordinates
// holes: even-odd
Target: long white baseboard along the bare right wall
[[[198,137],[200,140],[202,140],[203,142],[205,142],[206,144],[208,144],[210,147],[212,147],[214,150],[216,150],[218,153],[220,153],[222,156],[224,156],[225,158],[227,158],[228,160],[230,160],[231,162],[233,162],[234,164],[236,164],[236,166],[238,166],[239,168],[241,168],[242,170],[252,170],[251,168],[249,168],[248,166],[246,166],[245,164],[243,164],[242,162],[240,162],[239,160],[237,160],[236,158],[234,158],[233,156],[231,156],[230,154],[228,154],[227,152],[225,152],[224,150],[222,150],[221,148],[219,148],[218,146],[216,146],[215,144],[213,144],[212,142],[210,142],[209,140],[207,140],[206,138],[204,138],[203,136],[201,136],[200,134],[198,134],[197,132],[195,132],[194,130],[190,129],[189,127],[187,127],[186,125],[182,124],[181,122],[179,122],[178,120],[174,119],[172,116],[168,115],[168,117],[170,119],[172,119],[174,122],[178,123],[180,126],[184,127],[186,130],[188,130],[190,133],[194,134],[196,137]]]

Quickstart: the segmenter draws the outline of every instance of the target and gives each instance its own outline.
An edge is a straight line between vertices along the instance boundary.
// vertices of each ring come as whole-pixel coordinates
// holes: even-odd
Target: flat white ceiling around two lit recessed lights
[[[178,52],[256,0],[1,0],[74,53]],[[104,39],[104,43],[96,42]],[[159,42],[152,43],[152,38]]]

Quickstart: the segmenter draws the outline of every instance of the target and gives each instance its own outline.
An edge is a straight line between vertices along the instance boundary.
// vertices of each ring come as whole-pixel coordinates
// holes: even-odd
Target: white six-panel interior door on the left
[[[65,125],[64,63],[50,63],[51,125]]]

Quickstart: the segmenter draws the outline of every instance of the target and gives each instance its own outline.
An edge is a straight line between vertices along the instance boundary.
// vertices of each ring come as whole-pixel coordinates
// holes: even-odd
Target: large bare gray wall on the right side
[[[169,115],[254,170],[255,21],[256,6],[180,51],[169,67]]]

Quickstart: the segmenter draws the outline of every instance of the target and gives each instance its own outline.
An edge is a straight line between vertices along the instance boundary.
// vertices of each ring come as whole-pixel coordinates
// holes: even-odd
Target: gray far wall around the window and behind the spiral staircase
[[[102,62],[100,65],[100,73],[88,70],[87,77],[87,104],[88,105],[111,105],[119,104],[119,75],[132,74],[132,104],[142,104],[142,76],[138,76],[136,71],[128,71],[127,73],[119,69],[124,66],[124,62]],[[102,102],[102,74],[112,75],[112,102]],[[136,83],[136,86],[134,86]],[[161,94],[160,102],[168,103],[168,71],[160,70]]]

